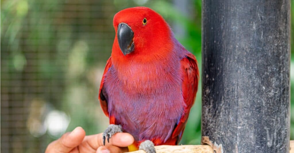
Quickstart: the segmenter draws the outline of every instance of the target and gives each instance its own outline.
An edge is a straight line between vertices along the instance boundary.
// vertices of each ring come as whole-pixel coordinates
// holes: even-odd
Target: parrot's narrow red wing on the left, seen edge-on
[[[105,81],[106,73],[111,68],[111,65],[112,65],[111,57],[109,57],[109,59],[106,62],[106,66],[105,66],[105,69],[104,69],[104,73],[103,73],[103,77],[102,77],[101,84],[100,84],[100,89],[99,89],[100,105],[101,105],[101,108],[102,108],[102,110],[103,110],[103,112],[104,112],[104,114],[106,116],[108,116],[107,94],[106,94],[106,91],[103,90],[103,84],[104,84],[104,81]]]

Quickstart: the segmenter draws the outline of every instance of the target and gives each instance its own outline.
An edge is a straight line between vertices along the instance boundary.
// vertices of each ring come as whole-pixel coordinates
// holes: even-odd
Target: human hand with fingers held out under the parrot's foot
[[[45,153],[116,153],[128,152],[134,138],[129,133],[116,133],[103,146],[102,134],[87,135],[82,127],[76,127],[58,140],[51,142]]]

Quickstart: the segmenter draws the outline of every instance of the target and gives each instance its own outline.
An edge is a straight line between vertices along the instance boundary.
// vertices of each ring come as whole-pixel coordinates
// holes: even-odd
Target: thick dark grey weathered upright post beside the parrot
[[[290,0],[203,0],[202,24],[202,136],[289,152]]]

